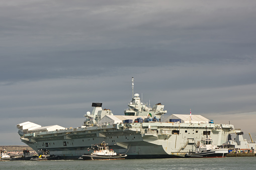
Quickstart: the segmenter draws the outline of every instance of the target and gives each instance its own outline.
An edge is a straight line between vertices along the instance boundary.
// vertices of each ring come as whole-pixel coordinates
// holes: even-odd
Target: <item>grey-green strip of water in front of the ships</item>
[[[256,157],[121,160],[0,161],[1,170],[18,169],[256,169]]]

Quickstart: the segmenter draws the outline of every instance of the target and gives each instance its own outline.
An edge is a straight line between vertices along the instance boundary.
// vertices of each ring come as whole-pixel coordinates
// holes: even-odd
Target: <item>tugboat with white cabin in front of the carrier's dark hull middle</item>
[[[127,154],[116,153],[114,150],[110,149],[109,146],[106,146],[105,142],[101,144],[94,144],[92,146],[93,153],[82,155],[83,160],[96,160],[96,159],[124,159]]]

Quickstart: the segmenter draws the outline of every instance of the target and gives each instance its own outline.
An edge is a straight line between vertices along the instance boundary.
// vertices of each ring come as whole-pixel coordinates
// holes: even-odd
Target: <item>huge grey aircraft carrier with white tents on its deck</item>
[[[185,157],[200,145],[202,137],[211,136],[214,145],[226,142],[230,133],[239,132],[231,124],[215,124],[201,115],[167,113],[164,105],[153,107],[142,103],[139,94],[133,94],[124,115],[113,115],[102,109],[102,103],[93,103],[80,127],[59,125],[41,126],[32,122],[17,124],[21,141],[34,150],[48,149],[62,159],[78,159],[90,154],[88,147],[106,141],[109,149],[127,154],[127,158]]]

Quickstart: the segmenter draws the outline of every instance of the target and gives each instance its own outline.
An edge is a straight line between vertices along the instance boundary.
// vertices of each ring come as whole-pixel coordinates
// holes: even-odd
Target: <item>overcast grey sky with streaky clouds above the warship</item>
[[[16,125],[79,127],[134,93],[256,140],[256,1],[0,1],[0,145]]]

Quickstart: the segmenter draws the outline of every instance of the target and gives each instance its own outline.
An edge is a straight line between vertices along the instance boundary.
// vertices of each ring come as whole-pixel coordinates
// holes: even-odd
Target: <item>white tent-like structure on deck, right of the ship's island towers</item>
[[[170,119],[181,119],[180,123],[209,123],[209,119],[198,114],[192,114],[191,117],[189,114],[172,114],[161,122],[169,122]]]

